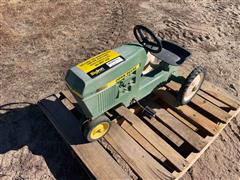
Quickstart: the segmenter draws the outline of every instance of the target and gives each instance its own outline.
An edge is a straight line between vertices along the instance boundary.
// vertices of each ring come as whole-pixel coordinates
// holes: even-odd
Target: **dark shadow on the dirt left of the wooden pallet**
[[[0,155],[24,146],[45,159],[56,179],[86,179],[78,160],[37,105],[24,102],[0,106]]]

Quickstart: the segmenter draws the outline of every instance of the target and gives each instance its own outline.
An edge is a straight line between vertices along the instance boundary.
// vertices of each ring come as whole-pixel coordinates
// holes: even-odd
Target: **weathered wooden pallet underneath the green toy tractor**
[[[118,119],[104,137],[115,155],[102,141],[84,143],[81,118],[69,92],[49,96],[38,104],[91,177],[179,179],[239,113],[240,102],[205,81],[190,104],[177,106],[178,89],[179,84],[170,82],[142,101],[156,111],[154,118],[144,116],[137,105],[120,106],[108,113]],[[129,176],[116,153],[134,176]]]

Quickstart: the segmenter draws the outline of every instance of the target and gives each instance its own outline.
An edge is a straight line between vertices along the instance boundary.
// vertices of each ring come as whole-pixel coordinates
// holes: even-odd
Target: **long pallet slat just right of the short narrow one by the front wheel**
[[[120,106],[115,109],[116,112],[124,117],[131,125],[142,134],[161,154],[163,154],[178,170],[183,170],[187,165],[187,161],[175,151],[168,143],[152,131],[141,119],[133,114],[129,109]]]

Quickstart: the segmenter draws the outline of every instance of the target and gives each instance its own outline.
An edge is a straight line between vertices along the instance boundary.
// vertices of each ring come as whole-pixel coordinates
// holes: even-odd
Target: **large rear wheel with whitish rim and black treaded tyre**
[[[178,101],[181,104],[187,104],[195,96],[200,89],[204,79],[205,70],[202,67],[196,67],[183,82],[179,94]]]

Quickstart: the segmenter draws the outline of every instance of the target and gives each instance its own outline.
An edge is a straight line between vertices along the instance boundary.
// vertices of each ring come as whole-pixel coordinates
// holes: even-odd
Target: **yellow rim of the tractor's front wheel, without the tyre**
[[[103,137],[106,132],[108,131],[109,128],[109,123],[107,122],[102,122],[100,124],[98,124],[97,126],[95,126],[91,133],[90,133],[90,138],[93,140],[99,139],[101,137]]]

